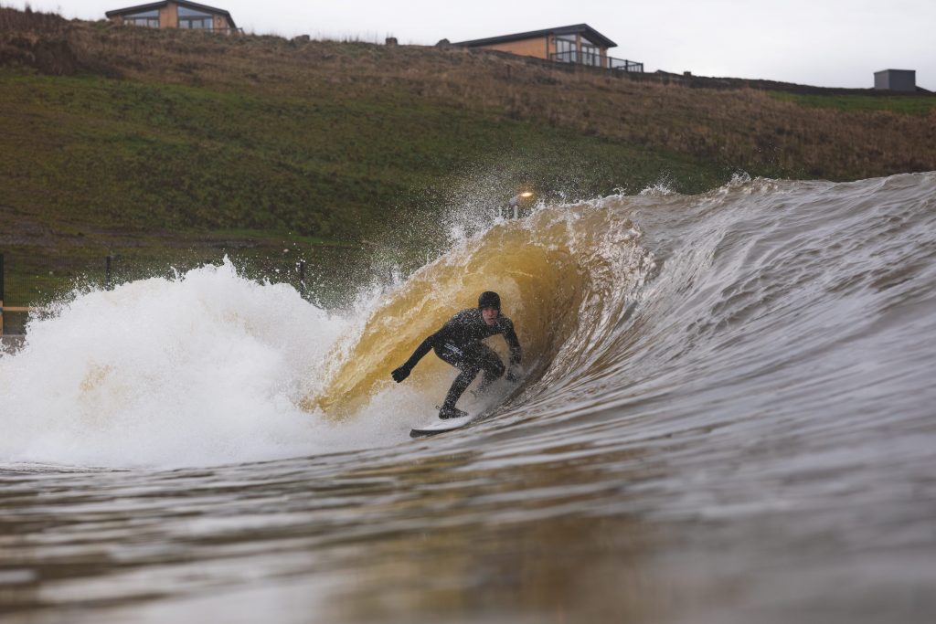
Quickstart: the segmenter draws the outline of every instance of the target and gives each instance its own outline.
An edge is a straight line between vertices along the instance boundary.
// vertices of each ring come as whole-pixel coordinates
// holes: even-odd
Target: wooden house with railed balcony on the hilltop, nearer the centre
[[[559,28],[534,30],[514,35],[491,36],[485,39],[459,41],[453,46],[483,48],[534,56],[556,63],[571,63],[603,67],[616,71],[643,72],[643,63],[608,56],[607,51],[616,44],[587,23]]]

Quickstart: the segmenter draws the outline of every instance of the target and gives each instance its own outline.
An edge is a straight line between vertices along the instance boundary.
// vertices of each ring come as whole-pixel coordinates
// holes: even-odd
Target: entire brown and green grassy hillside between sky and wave
[[[936,98],[826,106],[571,69],[0,8],[0,251],[22,268],[7,290],[35,298],[109,253],[147,267],[284,246],[330,257],[323,244],[393,239],[466,194],[936,169]]]

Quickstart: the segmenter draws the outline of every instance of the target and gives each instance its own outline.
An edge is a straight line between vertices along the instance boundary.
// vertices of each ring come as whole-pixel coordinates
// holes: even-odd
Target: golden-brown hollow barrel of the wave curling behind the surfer
[[[310,412],[341,419],[351,416],[381,388],[392,385],[390,371],[417,345],[478,295],[501,295],[503,313],[517,330],[528,383],[548,367],[573,331],[584,276],[575,254],[574,232],[564,219],[547,217],[495,225],[456,245],[420,268],[390,294],[363,329],[338,341],[323,390],[301,401]],[[507,361],[505,341],[487,343]],[[404,384],[441,401],[453,378],[451,368],[432,353]]]

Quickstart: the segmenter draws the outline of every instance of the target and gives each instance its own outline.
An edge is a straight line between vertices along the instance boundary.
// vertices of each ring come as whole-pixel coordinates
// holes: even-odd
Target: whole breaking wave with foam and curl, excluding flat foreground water
[[[76,295],[0,359],[0,460],[203,465],[400,443],[453,373],[432,354],[404,385],[388,371],[488,289],[525,351],[503,411],[548,427],[629,422],[636,406],[641,432],[926,418],[934,185],[735,181],[541,208],[344,318],[230,264]]]

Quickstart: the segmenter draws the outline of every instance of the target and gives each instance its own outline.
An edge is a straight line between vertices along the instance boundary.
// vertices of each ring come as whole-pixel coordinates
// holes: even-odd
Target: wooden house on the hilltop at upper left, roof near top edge
[[[241,32],[225,9],[206,7],[186,0],[163,0],[137,7],[115,8],[105,15],[111,22],[147,28]]]

